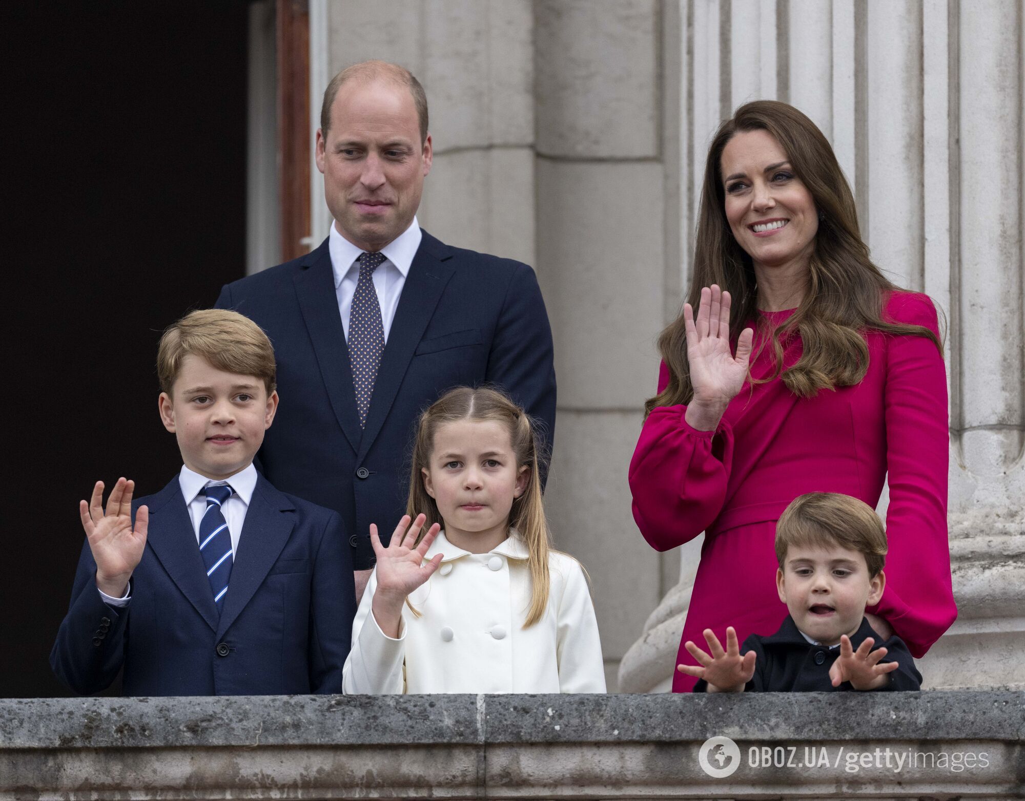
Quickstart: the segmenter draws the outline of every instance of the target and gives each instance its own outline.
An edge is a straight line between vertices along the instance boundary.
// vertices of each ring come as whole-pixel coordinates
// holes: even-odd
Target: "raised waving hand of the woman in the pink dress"
[[[754,332],[745,328],[737,340],[737,353],[730,349],[730,293],[717,285],[701,290],[697,320],[690,303],[684,303],[687,330],[687,362],[694,396],[686,419],[699,431],[713,431],[730,400],[747,378]]]

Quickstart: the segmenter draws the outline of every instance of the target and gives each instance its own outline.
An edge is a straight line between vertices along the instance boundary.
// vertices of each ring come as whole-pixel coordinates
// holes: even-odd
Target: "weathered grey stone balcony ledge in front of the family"
[[[1023,739],[1006,691],[0,700],[0,799],[1021,798]]]

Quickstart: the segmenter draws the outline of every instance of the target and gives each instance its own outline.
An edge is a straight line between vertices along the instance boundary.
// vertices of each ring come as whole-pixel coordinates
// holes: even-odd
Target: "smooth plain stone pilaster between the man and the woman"
[[[660,556],[624,533],[626,465],[663,318],[659,3],[534,4],[538,275],[559,415],[546,506],[590,574],[610,689],[663,590]]]

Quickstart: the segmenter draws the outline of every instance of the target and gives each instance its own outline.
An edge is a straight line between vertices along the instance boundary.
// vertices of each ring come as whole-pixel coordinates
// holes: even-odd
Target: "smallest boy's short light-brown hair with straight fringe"
[[[883,570],[887,533],[868,504],[839,493],[808,493],[795,498],[776,523],[776,558],[786,561],[791,546],[838,545],[865,556],[869,578]]]

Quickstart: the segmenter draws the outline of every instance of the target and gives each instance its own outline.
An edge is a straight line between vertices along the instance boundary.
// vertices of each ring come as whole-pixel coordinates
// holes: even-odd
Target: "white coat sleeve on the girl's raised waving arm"
[[[341,672],[342,692],[346,695],[401,694],[406,691],[405,616],[399,624],[398,639],[384,634],[370,610],[376,589],[377,570],[374,568],[353,622],[353,647]]]

